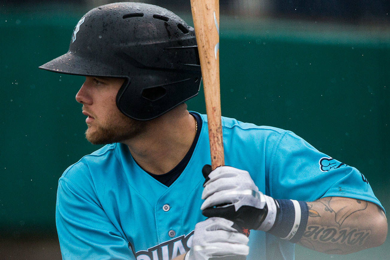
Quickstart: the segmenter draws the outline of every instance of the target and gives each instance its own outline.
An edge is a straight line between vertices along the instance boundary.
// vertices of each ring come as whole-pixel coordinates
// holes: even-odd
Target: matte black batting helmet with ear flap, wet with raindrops
[[[126,78],[116,104],[137,120],[154,119],[196,96],[202,77],[194,29],[167,9],[129,2],[87,12],[69,51],[39,68]]]

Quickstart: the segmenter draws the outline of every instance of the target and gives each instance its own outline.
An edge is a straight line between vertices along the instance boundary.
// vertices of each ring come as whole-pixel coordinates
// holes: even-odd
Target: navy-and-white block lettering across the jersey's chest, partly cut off
[[[161,244],[148,248],[147,250],[135,252],[130,243],[129,248],[133,251],[137,260],[170,260],[190,250],[192,246],[193,233],[194,232],[191,231],[188,235],[182,235],[175,239],[162,242]]]

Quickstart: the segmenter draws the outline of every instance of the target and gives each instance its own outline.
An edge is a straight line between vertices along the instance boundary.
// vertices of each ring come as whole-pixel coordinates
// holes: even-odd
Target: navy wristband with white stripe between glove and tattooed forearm
[[[298,242],[307,225],[307,203],[296,200],[275,200],[275,202],[277,216],[269,233],[292,243]]]

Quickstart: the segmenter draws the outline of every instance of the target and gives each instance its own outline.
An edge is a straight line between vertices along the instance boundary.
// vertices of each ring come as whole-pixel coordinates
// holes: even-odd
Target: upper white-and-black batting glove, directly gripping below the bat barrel
[[[247,171],[220,166],[202,169],[206,178],[200,209],[206,217],[222,217],[241,227],[268,231],[277,214],[275,200],[262,194]]]

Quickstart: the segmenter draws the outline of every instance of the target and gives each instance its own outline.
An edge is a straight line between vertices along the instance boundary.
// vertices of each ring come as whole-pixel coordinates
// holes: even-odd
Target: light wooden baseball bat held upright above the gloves
[[[202,69],[209,128],[211,168],[225,164],[219,77],[219,2],[191,0],[191,11]]]

